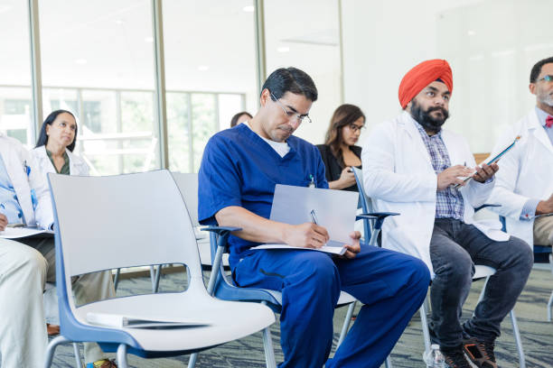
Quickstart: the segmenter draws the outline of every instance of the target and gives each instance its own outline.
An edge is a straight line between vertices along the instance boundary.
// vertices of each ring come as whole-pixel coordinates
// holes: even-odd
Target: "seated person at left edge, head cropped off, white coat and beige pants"
[[[0,231],[7,225],[52,229],[52,201],[40,170],[14,138],[0,134]],[[2,368],[42,367],[48,339],[42,304],[46,281],[54,281],[53,239],[0,238],[0,354]],[[80,276],[77,304],[115,296],[108,271]],[[96,344],[85,345],[87,367],[115,367]],[[94,365],[95,362],[98,362]]]

